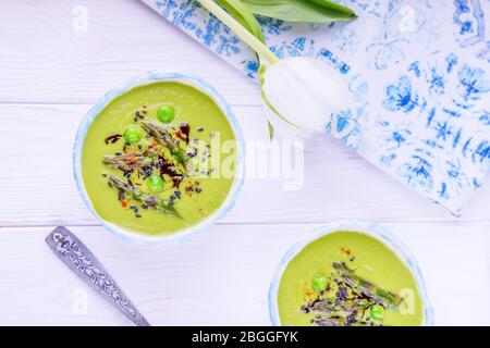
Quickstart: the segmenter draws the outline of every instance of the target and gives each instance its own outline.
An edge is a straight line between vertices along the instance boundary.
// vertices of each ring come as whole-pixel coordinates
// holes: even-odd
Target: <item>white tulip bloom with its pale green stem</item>
[[[324,133],[332,115],[350,109],[352,98],[347,86],[324,62],[306,57],[280,60],[215,1],[199,2],[260,58],[262,99],[269,110],[269,120],[280,135]]]

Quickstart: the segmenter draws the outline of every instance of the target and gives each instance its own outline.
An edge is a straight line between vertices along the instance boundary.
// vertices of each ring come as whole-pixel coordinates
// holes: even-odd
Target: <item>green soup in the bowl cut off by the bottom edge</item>
[[[287,264],[278,291],[282,325],[421,325],[424,308],[411,270],[381,241],[334,232]]]

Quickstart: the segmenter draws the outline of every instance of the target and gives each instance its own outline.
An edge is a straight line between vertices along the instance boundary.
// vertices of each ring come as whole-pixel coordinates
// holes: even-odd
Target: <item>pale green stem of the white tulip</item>
[[[265,58],[270,64],[279,62],[279,58],[238,21],[233,18],[226,11],[212,0],[197,0],[205,9],[217,16],[230,29],[233,30],[246,45],[248,45],[259,57]]]

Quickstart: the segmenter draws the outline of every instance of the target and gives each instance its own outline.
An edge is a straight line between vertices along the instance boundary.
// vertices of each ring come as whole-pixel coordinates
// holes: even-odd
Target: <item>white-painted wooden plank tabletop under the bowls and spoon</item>
[[[200,75],[247,139],[267,139],[256,85],[137,0],[1,1],[0,324],[128,324],[45,245],[61,224],[152,324],[268,325],[282,253],[340,219],[376,221],[406,243],[437,324],[490,324],[490,183],[456,219],[328,136],[306,142],[303,189],[247,179],[233,211],[188,243],[150,248],[107,233],[72,178],[75,130],[103,91],[148,70]]]

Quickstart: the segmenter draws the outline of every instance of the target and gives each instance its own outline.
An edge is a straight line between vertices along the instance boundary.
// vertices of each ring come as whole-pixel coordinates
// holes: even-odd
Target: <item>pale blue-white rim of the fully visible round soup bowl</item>
[[[109,102],[111,102],[115,97],[133,89],[134,87],[155,82],[177,82],[181,84],[189,85],[209,96],[221,109],[226,120],[229,121],[237,144],[235,179],[233,182],[233,185],[230,189],[226,199],[221,204],[220,209],[218,209],[215,213],[212,213],[207,219],[203,220],[201,222],[199,222],[194,226],[164,236],[145,236],[143,234],[137,234],[124,229],[115,224],[109,223],[105,221],[102,217],[100,217],[95,211],[91,201],[88,198],[87,191],[84,187],[82,178],[82,165],[81,165],[85,136],[91,122],[97,117],[97,115],[102,111],[102,109],[106,108],[106,105]],[[82,124],[78,126],[78,130],[76,133],[75,145],[73,149],[73,172],[75,176],[76,186],[78,188],[79,194],[82,195],[82,198],[85,201],[85,204],[88,207],[91,213],[100,221],[100,223],[107,227],[107,229],[124,239],[156,245],[175,244],[185,240],[189,236],[195,235],[197,232],[203,231],[205,227],[213,224],[217,220],[222,219],[226,214],[226,212],[230,211],[230,209],[232,209],[238,195],[238,191],[241,190],[243,185],[243,177],[244,177],[243,173],[245,162],[244,159],[245,159],[245,142],[238,122],[235,115],[233,114],[230,105],[224,100],[224,98],[212,86],[210,86],[201,78],[188,74],[171,73],[171,72],[168,73],[148,72],[143,75],[136,76],[126,82],[125,84],[123,84],[122,86],[106,92],[103,97],[94,105],[94,108],[91,108],[90,111],[88,111],[85,119],[82,121]]]

